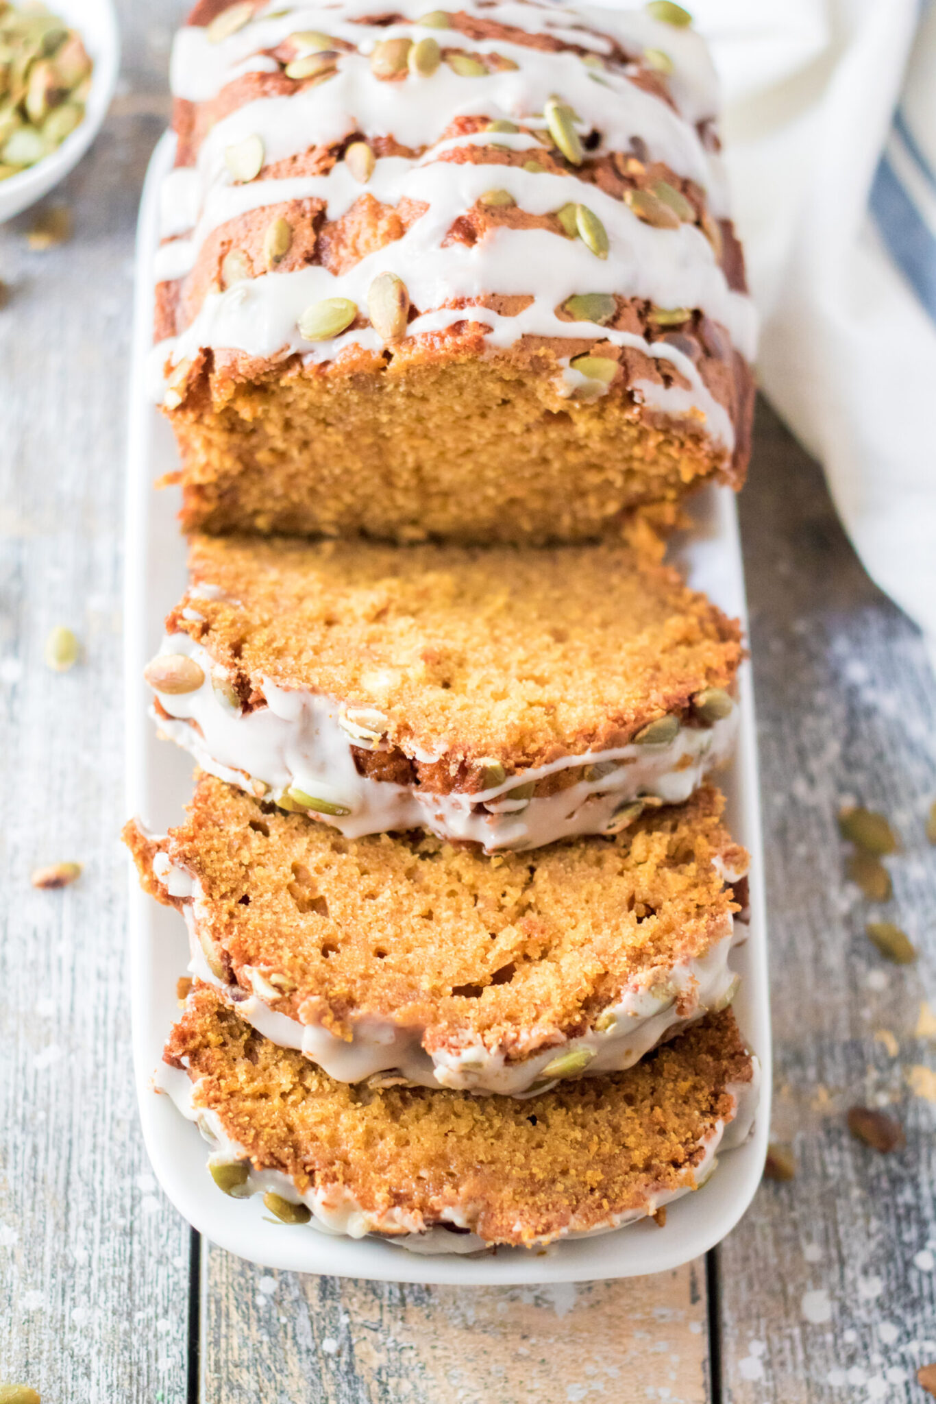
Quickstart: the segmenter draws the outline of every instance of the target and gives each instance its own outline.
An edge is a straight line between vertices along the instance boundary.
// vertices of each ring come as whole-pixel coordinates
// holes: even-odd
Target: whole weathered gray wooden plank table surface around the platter
[[[776,1139],[797,1175],[681,1272],[543,1290],[268,1273],[199,1243],[157,1189],[131,1075],[121,508],[133,225],[167,115],[175,0],[123,0],[125,79],[52,202],[0,229],[0,1382],[44,1404],[922,1401],[936,1360],[936,684],[869,583],[820,470],[761,409],[741,501],[763,771]],[[42,658],[66,623],[83,657]],[[855,797],[902,835],[895,899],[843,879]],[[65,892],[39,863],[79,859]],[[923,952],[887,965],[869,917]],[[890,1105],[908,1148],[853,1141]]]

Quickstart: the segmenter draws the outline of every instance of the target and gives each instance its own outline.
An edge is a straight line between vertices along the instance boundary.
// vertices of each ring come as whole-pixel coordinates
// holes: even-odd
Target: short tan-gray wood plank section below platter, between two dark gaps
[[[208,1252],[203,1404],[707,1398],[702,1262],[544,1287],[268,1273]]]

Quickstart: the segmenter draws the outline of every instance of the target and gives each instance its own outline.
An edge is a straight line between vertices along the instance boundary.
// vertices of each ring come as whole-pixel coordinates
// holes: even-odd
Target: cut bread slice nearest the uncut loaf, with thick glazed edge
[[[608,833],[731,751],[738,625],[627,546],[196,538],[147,668],[199,765],[348,837]]]

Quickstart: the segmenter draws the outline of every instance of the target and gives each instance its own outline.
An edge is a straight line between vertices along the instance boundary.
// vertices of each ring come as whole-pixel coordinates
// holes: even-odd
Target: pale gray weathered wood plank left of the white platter
[[[131,81],[161,88],[138,35]],[[185,1398],[189,1233],[139,1136],[116,842],[131,260],[157,131],[146,101],[108,121],[53,197],[67,244],[31,253],[31,216],[0,229],[0,1380],[49,1404]],[[63,675],[56,623],[83,643]],[[35,892],[62,859],[80,882]]]

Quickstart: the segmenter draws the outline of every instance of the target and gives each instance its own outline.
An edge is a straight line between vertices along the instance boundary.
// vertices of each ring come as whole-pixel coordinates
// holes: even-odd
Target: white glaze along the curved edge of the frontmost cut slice
[[[626,1227],[639,1219],[646,1219],[675,1199],[681,1199],[693,1189],[702,1188],[717,1168],[716,1153],[740,1146],[747,1139],[754,1123],[759,1088],[759,1064],[756,1057],[752,1057],[751,1063],[754,1075],[749,1082],[733,1082],[727,1085],[726,1091],[734,1102],[733,1116],[727,1122],[716,1122],[707,1136],[702,1139],[702,1161],[693,1171],[686,1172],[686,1184],[676,1189],[654,1189],[651,1186],[640,1207],[609,1214],[605,1223],[587,1230],[577,1230],[575,1220],[573,1219],[551,1240],[553,1244],[556,1245],[561,1240],[594,1237]],[[290,1203],[305,1203],[312,1212],[312,1219],[305,1226],[307,1228],[351,1238],[362,1238],[365,1234],[379,1233],[386,1236],[387,1243],[408,1248],[413,1252],[425,1254],[470,1254],[491,1247],[473,1231],[452,1234],[443,1227],[443,1224],[449,1223],[457,1228],[470,1228],[477,1221],[481,1209],[477,1203],[464,1202],[446,1206],[442,1209],[438,1221],[427,1224],[421,1213],[408,1212],[399,1206],[377,1213],[366,1210],[344,1185],[312,1188],[300,1192],[292,1177],[278,1170],[257,1170],[250,1163],[247,1150],[227,1134],[220,1116],[210,1108],[196,1105],[198,1080],[192,1081],[187,1070],[161,1064],[156,1071],[154,1087],[157,1091],[168,1094],[175,1108],[187,1120],[198,1123],[202,1136],[212,1146],[212,1154],[208,1160],[209,1165],[230,1164],[232,1161],[248,1163],[250,1170],[247,1182],[241,1191],[243,1198],[272,1191]],[[542,1241],[546,1240],[530,1243],[528,1247],[537,1247]]]

